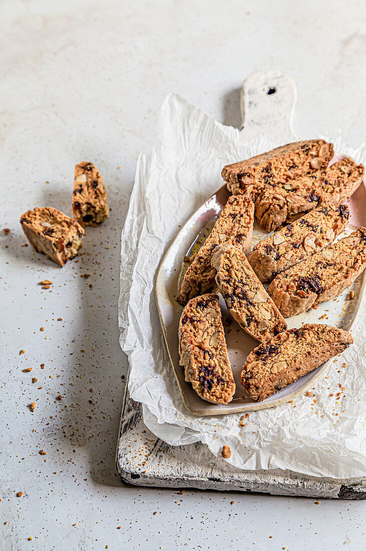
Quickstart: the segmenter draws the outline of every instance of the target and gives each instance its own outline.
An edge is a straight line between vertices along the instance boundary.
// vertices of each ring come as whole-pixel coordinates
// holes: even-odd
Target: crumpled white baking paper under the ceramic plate
[[[328,137],[329,138],[329,137]],[[337,152],[365,163],[366,150],[331,140]],[[212,120],[178,95],[163,102],[151,158],[141,154],[122,232],[119,325],[130,364],[129,393],[143,404],[144,422],[171,445],[200,440],[212,453],[231,448],[241,469],[291,469],[313,476],[366,474],[366,334],[364,302],[355,343],[312,390],[293,403],[250,413],[198,418],[185,409],[171,369],[155,302],[155,277],[180,225],[221,185],[225,164],[263,153],[260,137],[241,143],[239,132]],[[346,364],[346,367],[343,366]],[[341,385],[342,388],[339,386]],[[336,400],[337,392],[341,392]],[[334,396],[330,397],[329,395]]]

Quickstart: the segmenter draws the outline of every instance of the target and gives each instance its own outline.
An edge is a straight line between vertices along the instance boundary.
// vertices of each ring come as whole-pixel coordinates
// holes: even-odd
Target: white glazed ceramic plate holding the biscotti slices
[[[340,156],[338,156],[340,158]],[[171,359],[172,368],[177,379],[179,390],[182,393],[185,407],[193,415],[223,415],[227,413],[240,413],[267,409],[275,407],[283,402],[288,402],[308,388],[314,386],[315,381],[329,369],[331,359],[319,368],[304,375],[298,381],[292,383],[280,392],[263,400],[263,402],[254,402],[245,395],[244,387],[241,385],[240,376],[242,366],[247,359],[248,354],[259,345],[252,337],[245,333],[239,325],[232,321],[230,326],[225,325],[229,316],[225,302],[220,296],[220,307],[222,321],[225,327],[225,336],[228,354],[236,383],[236,392],[230,404],[212,404],[201,399],[193,390],[192,386],[184,380],[184,369],[179,365],[178,353],[178,325],[181,318],[183,307],[177,302],[176,296],[178,285],[181,283],[182,274],[188,267],[184,262],[184,257],[196,252],[203,244],[212,226],[216,222],[218,215],[225,206],[230,194],[226,186],[222,186],[212,197],[189,218],[188,222],[179,231],[176,239],[168,249],[163,258],[156,278],[156,302],[159,311],[162,331]],[[348,201],[348,207],[351,212],[350,222],[345,234],[351,233],[360,226],[366,226],[366,189],[362,184],[356,193]],[[343,237],[345,234],[341,234]],[[253,246],[268,236],[266,231],[261,230],[258,225],[254,225],[252,249]],[[354,282],[352,289],[354,299],[346,300],[349,289],[334,300],[323,302],[318,309],[310,309],[304,314],[293,316],[286,319],[289,328],[301,327],[303,323],[326,323],[349,331],[356,319],[358,307],[362,298],[366,277],[363,272]],[[321,317],[326,315],[325,318]]]

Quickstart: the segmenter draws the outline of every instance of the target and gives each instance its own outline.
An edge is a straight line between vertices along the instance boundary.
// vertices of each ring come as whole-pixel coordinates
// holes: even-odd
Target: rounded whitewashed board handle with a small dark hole
[[[244,80],[241,91],[241,139],[265,136],[276,144],[294,142],[296,83],[282,71],[258,71]]]

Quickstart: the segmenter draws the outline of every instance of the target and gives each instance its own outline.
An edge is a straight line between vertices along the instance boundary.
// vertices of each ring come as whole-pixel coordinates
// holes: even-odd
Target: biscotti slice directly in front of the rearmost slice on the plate
[[[363,165],[357,166],[346,157],[325,172],[303,176],[283,187],[267,187],[255,201],[256,221],[260,228],[272,231],[317,206],[344,203],[357,190],[363,176]]]

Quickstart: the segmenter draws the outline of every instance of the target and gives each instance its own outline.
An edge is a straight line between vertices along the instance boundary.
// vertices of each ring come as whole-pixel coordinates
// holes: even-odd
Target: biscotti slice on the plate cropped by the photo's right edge
[[[282,316],[309,310],[340,295],[366,267],[366,228],[278,274],[268,288]]]

